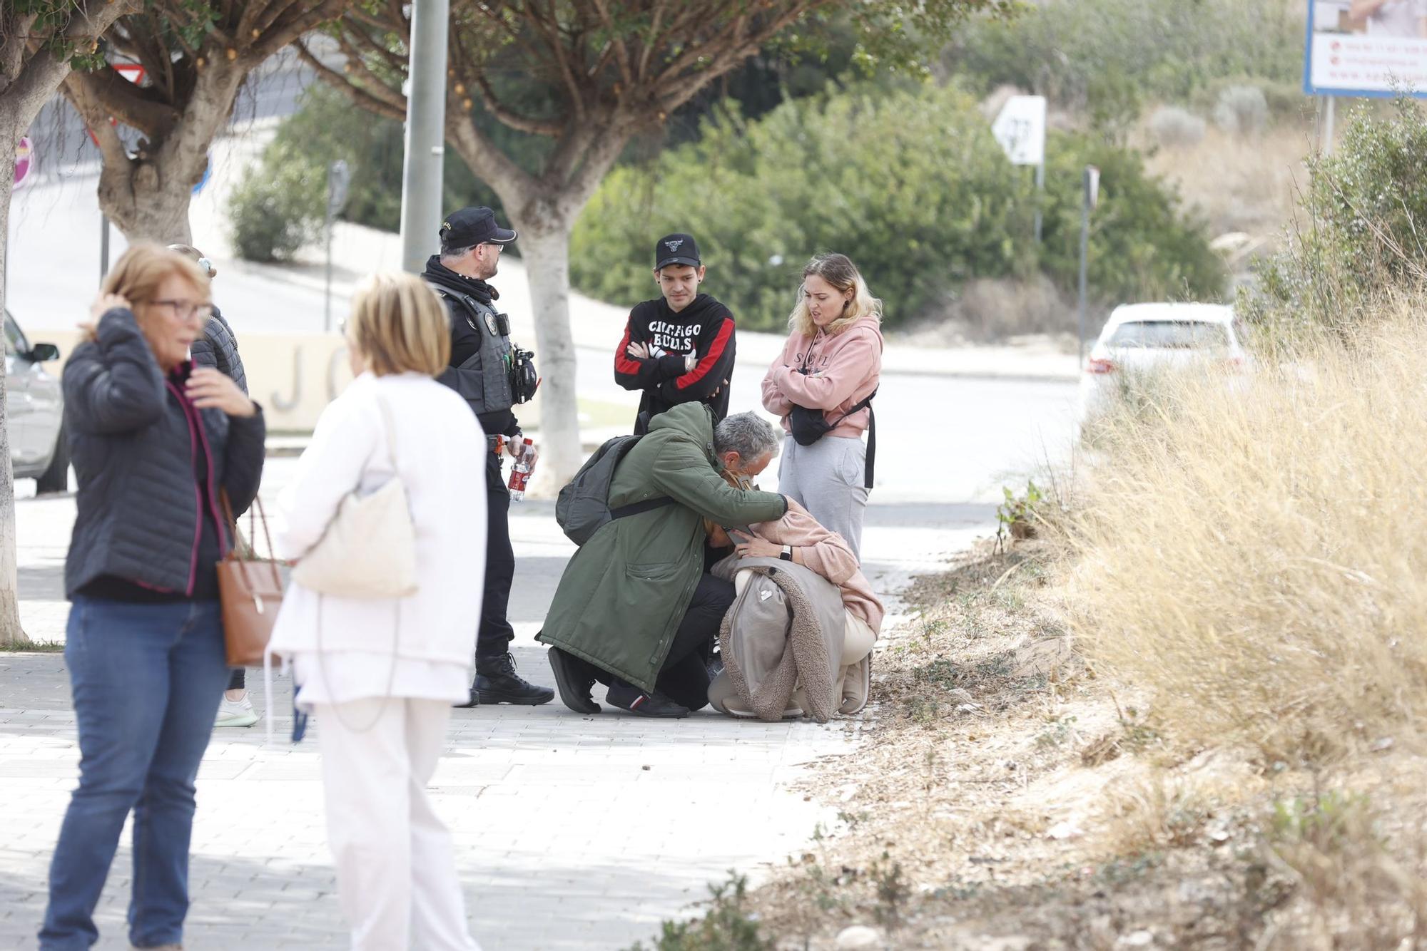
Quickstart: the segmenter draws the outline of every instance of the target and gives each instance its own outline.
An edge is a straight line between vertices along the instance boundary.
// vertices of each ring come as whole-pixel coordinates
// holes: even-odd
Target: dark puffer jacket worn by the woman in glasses
[[[104,314],[98,341],[80,344],[64,368],[64,422],[78,476],[78,513],[64,562],[73,596],[98,577],[191,593],[201,518],[223,522],[218,492],[238,512],[253,503],[263,478],[265,425],[261,411],[230,418],[195,409],[178,372],[164,378],[134,315]],[[208,479],[195,483],[195,458]],[[223,552],[233,545],[224,530]]]

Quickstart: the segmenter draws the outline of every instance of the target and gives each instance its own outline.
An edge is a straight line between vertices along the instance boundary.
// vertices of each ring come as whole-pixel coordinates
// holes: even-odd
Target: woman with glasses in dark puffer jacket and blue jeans
[[[157,245],[114,265],[64,368],[78,513],[64,565],[64,660],[80,784],[50,864],[40,947],[87,948],[118,836],[134,813],[130,944],[178,945],[188,910],[194,778],[228,680],[217,562],[220,493],[251,505],[263,413],[190,345],[208,275]]]

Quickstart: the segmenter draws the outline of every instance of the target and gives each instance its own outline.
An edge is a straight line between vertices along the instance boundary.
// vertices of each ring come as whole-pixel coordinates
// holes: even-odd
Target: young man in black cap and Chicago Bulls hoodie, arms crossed
[[[699,294],[704,274],[691,235],[669,234],[654,245],[654,279],[664,295],[635,305],[615,351],[615,382],[644,391],[635,435],[648,432],[649,419],[678,403],[708,403],[715,425],[728,415],[733,315]]]

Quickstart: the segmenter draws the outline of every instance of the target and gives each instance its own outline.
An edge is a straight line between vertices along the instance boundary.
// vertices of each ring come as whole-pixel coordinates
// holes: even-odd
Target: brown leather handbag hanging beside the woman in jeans
[[[218,562],[218,602],[223,606],[223,642],[227,647],[230,667],[255,667],[263,663],[263,652],[273,637],[277,610],[283,605],[283,575],[273,555],[273,536],[268,535],[267,515],[263,502],[253,499],[248,510],[248,542],[238,533],[233,518],[233,503],[224,492],[223,515],[233,529],[233,548]],[[263,538],[267,540],[268,557],[258,557],[253,548],[257,539],[255,522],[263,522]]]

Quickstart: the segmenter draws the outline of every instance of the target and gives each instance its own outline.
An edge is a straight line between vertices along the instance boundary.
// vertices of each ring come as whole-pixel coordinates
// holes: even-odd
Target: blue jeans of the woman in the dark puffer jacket
[[[188,913],[194,778],[228,683],[217,602],[128,605],[76,597],[64,662],[80,734],[80,784],[50,863],[40,948],[88,948],[94,907],[134,810],[128,940],[178,944]]]

